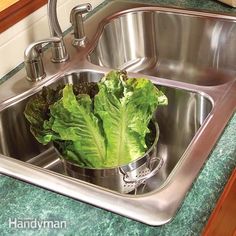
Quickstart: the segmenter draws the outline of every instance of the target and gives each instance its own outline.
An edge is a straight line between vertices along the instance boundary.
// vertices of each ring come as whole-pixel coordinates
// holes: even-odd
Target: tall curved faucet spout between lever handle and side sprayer
[[[48,0],[48,23],[49,30],[52,37],[60,38],[60,42],[52,43],[52,61],[63,62],[69,56],[63,40],[63,34],[57,18],[57,0]]]

